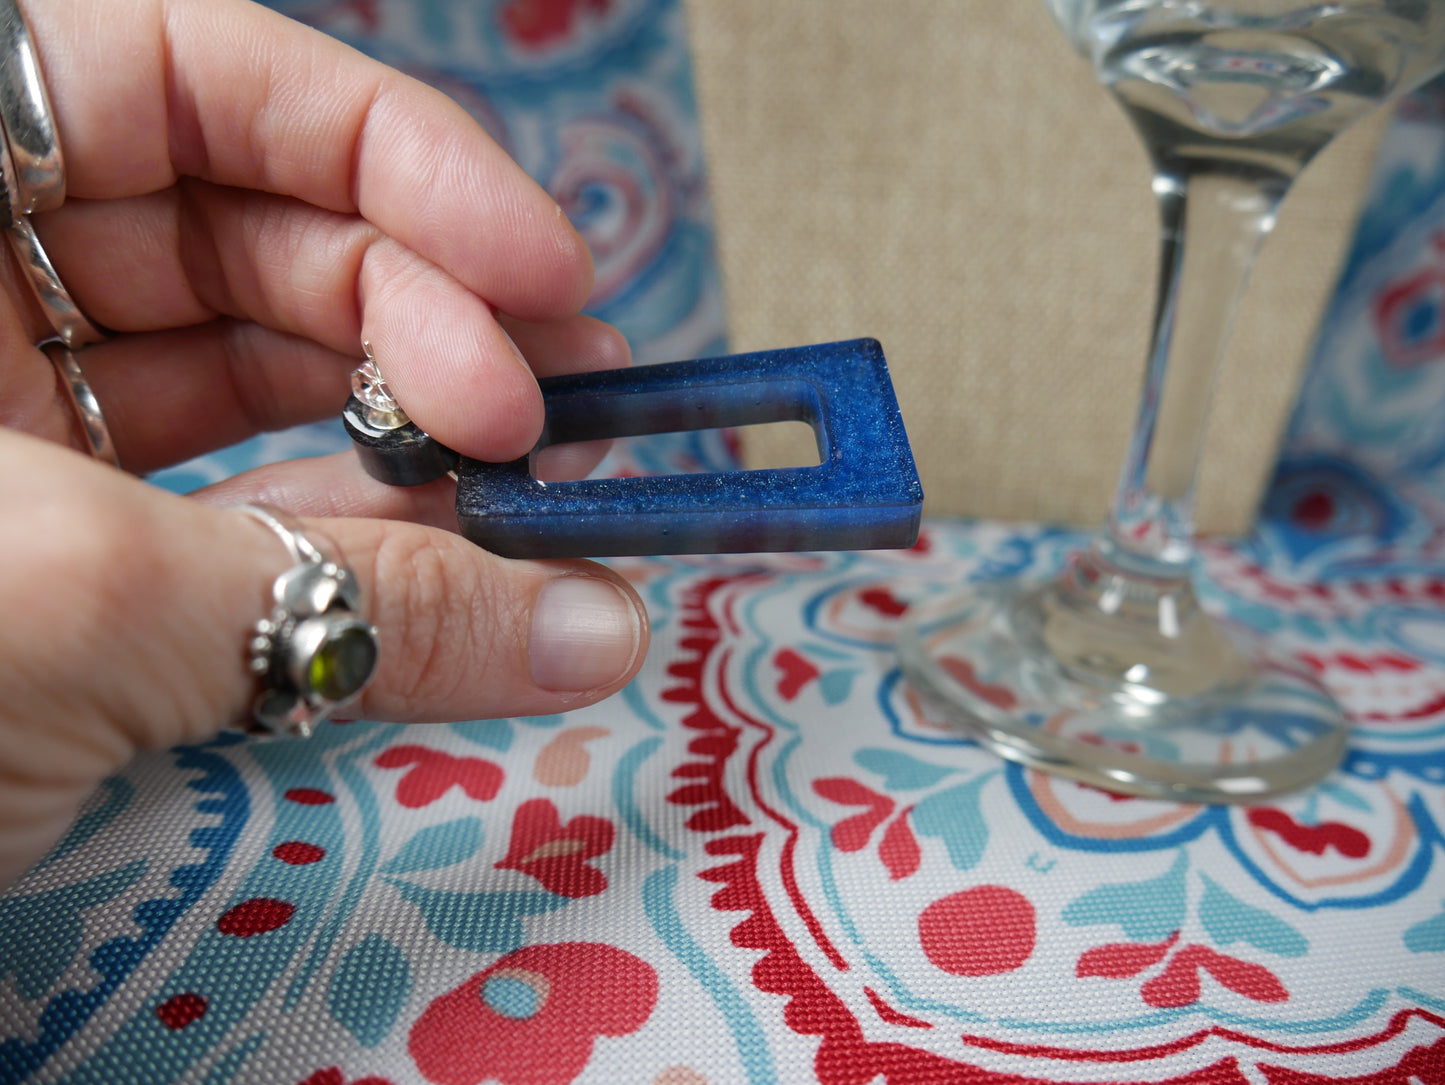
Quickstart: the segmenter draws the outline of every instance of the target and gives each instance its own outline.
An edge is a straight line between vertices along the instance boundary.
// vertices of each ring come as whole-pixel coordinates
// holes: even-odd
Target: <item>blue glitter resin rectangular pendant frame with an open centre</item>
[[[853,340],[551,377],[530,457],[462,459],[461,532],[507,558],[912,546],[923,487],[883,348]],[[539,483],[536,452],[600,438],[806,422],[816,467]]]

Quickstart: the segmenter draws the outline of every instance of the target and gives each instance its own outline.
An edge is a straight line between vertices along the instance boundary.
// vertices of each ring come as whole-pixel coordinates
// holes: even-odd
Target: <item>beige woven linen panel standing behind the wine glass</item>
[[[733,347],[876,337],[931,513],[1098,523],[1156,218],[1133,129],[1042,0],[686,7]],[[1207,530],[1253,516],[1379,127],[1319,156],[1266,244],[1207,439]]]

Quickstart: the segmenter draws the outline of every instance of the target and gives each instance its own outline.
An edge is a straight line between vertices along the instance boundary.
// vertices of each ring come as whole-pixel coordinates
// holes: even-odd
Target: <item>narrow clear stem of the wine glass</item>
[[[1176,579],[1194,556],[1194,493],[1209,399],[1260,243],[1287,181],[1231,163],[1163,169],[1160,282],[1139,416],[1100,556]]]

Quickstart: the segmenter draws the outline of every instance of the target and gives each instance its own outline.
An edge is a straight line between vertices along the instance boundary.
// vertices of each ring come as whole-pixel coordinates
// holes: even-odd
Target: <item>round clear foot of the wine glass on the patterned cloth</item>
[[[1090,615],[1081,626],[1068,602],[1056,584],[1000,582],[916,607],[899,639],[903,672],[939,722],[1012,761],[1110,792],[1256,802],[1340,764],[1348,719],[1309,675],[1259,646],[1235,647],[1199,613],[1196,631],[1222,650],[1211,657],[1198,637],[1173,639],[1163,650],[1181,646],[1181,673],[1194,680],[1170,682],[1157,641],[1140,649],[1147,665],[1120,665],[1127,636],[1113,615],[1092,615],[1091,634]]]

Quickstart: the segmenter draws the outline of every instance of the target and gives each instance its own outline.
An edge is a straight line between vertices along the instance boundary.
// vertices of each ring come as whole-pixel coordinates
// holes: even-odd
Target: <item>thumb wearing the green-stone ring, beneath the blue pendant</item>
[[[19,873],[136,750],[249,718],[247,646],[295,562],[236,510],[3,429],[0,507],[0,608],[13,615],[0,623],[0,868],[9,852]],[[379,666],[348,715],[559,712],[642,665],[642,602],[600,565],[507,561],[399,520],[301,526],[334,540],[377,627]]]

